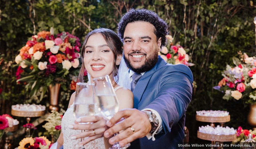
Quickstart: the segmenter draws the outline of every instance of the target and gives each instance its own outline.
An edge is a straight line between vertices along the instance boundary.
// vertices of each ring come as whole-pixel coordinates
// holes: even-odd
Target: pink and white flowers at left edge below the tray
[[[4,129],[7,127],[13,127],[14,125],[18,125],[19,121],[17,119],[13,119],[8,114],[3,114],[0,116],[0,138],[4,135]]]

